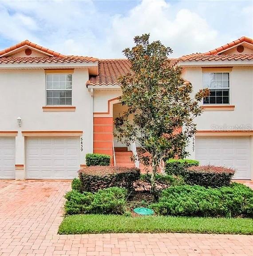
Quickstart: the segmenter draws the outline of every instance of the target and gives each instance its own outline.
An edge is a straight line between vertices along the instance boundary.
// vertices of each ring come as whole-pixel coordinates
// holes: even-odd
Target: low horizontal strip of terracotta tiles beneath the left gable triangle
[[[0,64],[32,64],[32,63],[83,63],[95,62],[98,59],[85,56],[64,56],[64,57],[0,57]]]

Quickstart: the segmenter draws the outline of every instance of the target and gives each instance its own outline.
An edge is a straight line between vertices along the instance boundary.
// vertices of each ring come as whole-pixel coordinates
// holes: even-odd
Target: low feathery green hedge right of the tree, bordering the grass
[[[151,208],[160,215],[253,217],[253,190],[243,184],[205,188],[181,185],[162,191]]]

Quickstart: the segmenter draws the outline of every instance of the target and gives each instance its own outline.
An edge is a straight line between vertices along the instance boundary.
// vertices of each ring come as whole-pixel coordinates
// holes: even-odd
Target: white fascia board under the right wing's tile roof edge
[[[182,67],[213,67],[213,66],[253,66],[253,60],[205,60],[205,61],[180,61],[178,63]]]

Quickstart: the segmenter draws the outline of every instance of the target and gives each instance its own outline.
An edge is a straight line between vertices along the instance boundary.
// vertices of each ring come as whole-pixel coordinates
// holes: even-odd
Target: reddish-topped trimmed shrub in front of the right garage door
[[[186,184],[219,188],[229,186],[235,171],[222,166],[204,165],[192,166],[182,176]]]

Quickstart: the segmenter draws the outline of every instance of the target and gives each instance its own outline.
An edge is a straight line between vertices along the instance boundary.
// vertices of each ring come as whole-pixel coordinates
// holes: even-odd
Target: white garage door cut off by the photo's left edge
[[[0,138],[0,179],[15,179],[15,138]]]

